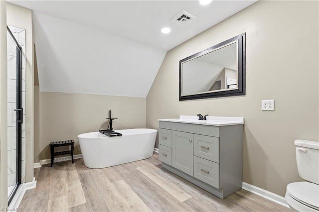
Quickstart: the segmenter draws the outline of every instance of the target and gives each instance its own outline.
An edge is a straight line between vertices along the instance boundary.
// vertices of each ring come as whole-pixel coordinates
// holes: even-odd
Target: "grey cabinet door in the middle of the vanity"
[[[172,131],[172,166],[193,176],[193,134]]]

